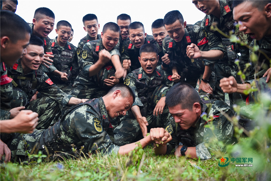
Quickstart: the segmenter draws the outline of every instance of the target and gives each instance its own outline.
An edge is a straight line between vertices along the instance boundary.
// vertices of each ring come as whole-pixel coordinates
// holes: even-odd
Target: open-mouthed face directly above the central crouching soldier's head
[[[144,33],[143,28],[130,29],[129,38],[136,48],[140,48],[145,43],[147,33]]]

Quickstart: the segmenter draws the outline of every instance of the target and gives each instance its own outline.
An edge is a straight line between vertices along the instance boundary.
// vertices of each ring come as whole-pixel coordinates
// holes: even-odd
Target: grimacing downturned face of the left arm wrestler
[[[121,95],[115,97],[112,102],[112,106],[107,113],[110,118],[117,118],[120,115],[126,115],[126,112],[132,107],[133,105],[133,97],[122,97]]]

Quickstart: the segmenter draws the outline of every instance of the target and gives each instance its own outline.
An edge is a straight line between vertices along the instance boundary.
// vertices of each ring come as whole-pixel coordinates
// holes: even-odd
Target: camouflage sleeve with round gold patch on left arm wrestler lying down
[[[118,153],[119,146],[114,145],[107,134],[103,130],[101,119],[94,115],[87,105],[76,109],[72,114],[69,114],[71,127],[76,130],[76,135],[79,140],[84,143],[87,152],[96,153],[99,150],[106,154],[112,152]]]

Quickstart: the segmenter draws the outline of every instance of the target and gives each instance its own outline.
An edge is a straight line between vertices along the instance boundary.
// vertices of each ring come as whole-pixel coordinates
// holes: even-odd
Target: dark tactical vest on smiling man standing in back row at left
[[[55,46],[53,42],[52,43],[52,53],[54,55],[54,57],[52,58],[54,61],[53,63],[57,70],[68,74],[67,76],[68,81],[64,82],[61,80],[61,77],[59,75],[54,75],[54,74],[50,75],[50,78],[53,82],[56,82],[56,83],[58,82],[61,84],[69,84],[72,78],[71,69],[72,69],[72,61],[73,61],[73,56],[74,56],[73,55],[74,45],[70,44],[70,47],[66,48],[65,50],[62,50],[60,54],[57,48],[58,46]]]

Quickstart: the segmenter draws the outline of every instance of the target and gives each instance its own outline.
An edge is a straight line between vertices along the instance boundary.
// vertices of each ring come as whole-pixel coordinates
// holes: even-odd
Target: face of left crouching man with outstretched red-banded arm
[[[24,73],[37,70],[44,58],[44,49],[38,45],[28,45],[27,53],[22,56],[21,63]]]

